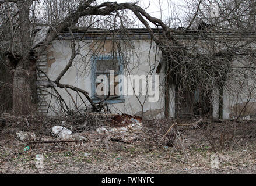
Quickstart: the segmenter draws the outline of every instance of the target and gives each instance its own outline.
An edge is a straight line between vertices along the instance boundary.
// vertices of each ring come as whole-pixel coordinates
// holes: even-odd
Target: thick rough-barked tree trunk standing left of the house
[[[13,76],[13,113],[16,116],[29,115],[32,105],[31,77],[33,71],[28,67],[17,66]]]

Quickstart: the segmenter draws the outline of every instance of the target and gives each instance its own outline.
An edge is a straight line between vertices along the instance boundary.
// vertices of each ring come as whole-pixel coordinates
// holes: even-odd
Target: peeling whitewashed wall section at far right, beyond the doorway
[[[239,56],[233,60],[225,83],[223,119],[256,116],[256,70],[253,61],[254,59],[248,59],[246,56]]]

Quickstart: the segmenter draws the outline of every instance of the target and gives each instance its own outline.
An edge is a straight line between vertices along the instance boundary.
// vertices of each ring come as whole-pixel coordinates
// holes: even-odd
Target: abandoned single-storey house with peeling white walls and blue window
[[[161,30],[154,29],[153,31],[161,35]],[[246,42],[248,38],[255,38],[255,34],[245,33],[240,35],[227,31],[204,33],[187,30],[174,35],[187,52],[185,55],[188,56],[188,64],[196,62],[194,59],[198,53],[201,55],[198,62],[209,60],[209,53],[211,56],[223,59],[225,55],[222,54],[222,51],[225,51],[223,48],[226,44]],[[211,40],[206,35],[212,36],[215,40]],[[71,48],[72,42],[75,43],[75,51]],[[234,54],[229,55],[228,67],[244,67],[243,60],[239,59],[244,57],[234,56]],[[190,58],[191,55],[194,57]],[[230,59],[232,55],[233,58]],[[73,58],[72,63],[70,63],[71,58]],[[180,60],[183,60],[183,58],[181,56]],[[208,64],[214,66],[218,62],[219,60],[212,60]],[[224,64],[227,63],[224,60]],[[186,80],[187,77],[184,76],[189,76],[190,73],[180,73],[178,77],[170,67],[170,75],[167,76],[167,59],[162,55],[161,50],[146,29],[129,29],[122,32],[120,30],[111,31],[96,28],[86,30],[85,28],[74,27],[72,33],[64,31],[52,41],[47,51],[38,60],[38,81],[55,81],[67,65],[69,67],[59,83],[84,90],[89,95],[90,100],[78,91],[53,86],[58,91],[58,96],[55,96],[52,87],[38,84],[38,109],[41,113],[58,115],[63,108],[86,112],[91,108],[92,103],[100,102],[104,105],[104,109],[111,113],[128,113],[129,115],[143,117],[208,115],[214,118],[230,119],[237,115],[242,117],[256,115],[256,105],[254,105],[253,100],[255,98],[253,96],[255,80],[248,75],[252,71],[247,71],[247,76],[243,75],[246,80],[241,80],[241,82],[246,81],[246,84],[239,84],[237,83],[238,80],[233,82],[232,80],[239,78],[239,76],[233,77],[230,74],[237,73],[237,71],[226,69],[225,84],[222,84],[222,87],[218,87],[218,78],[216,78],[217,83],[215,83],[212,79],[203,77],[204,72],[202,78],[197,81],[205,81],[209,84],[205,84],[205,87],[202,88],[197,86],[183,88],[181,83],[177,82],[181,82],[183,78]],[[199,66],[191,73],[198,69],[200,69]],[[184,69],[181,72],[184,72]],[[218,76],[220,73],[217,71],[215,74]],[[103,82],[103,78],[97,78],[100,75],[106,77],[107,80],[107,83],[105,82],[100,87],[100,91],[106,93],[104,95],[97,92],[97,87]],[[119,75],[123,75],[127,80],[116,78]],[[129,78],[131,75],[134,75],[132,76],[134,79]],[[111,77],[114,78],[111,80]],[[170,82],[168,88],[165,84],[167,78]],[[203,78],[205,79],[203,80]],[[127,86],[128,88],[124,86],[124,83],[129,80],[139,87],[138,90],[135,90],[136,88],[132,86]],[[229,82],[228,86],[226,85],[227,82]],[[148,86],[148,84],[150,85]],[[194,83],[191,81],[189,85],[192,84]],[[114,87],[114,94],[110,94],[111,85]],[[127,92],[134,92],[134,94],[124,94],[124,87],[127,88]],[[149,88],[151,88],[150,94],[148,94]],[[206,90],[211,92],[211,95],[206,94]],[[169,93],[169,95],[167,96],[166,93]],[[250,99],[248,99],[248,96],[250,96]],[[205,99],[206,97],[208,99]]]

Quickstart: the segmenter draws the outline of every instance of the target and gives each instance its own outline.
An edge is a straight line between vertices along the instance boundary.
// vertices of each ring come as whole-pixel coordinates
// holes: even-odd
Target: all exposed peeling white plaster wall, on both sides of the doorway
[[[97,33],[100,35],[100,33]],[[148,36],[147,36],[148,37]],[[226,35],[220,35],[216,40],[221,40],[221,37]],[[235,38],[234,35],[230,37]],[[218,42],[208,42],[202,35],[177,37],[188,49],[193,49],[201,52],[219,52],[222,49],[222,45]],[[188,38],[190,38],[188,40]],[[239,38],[237,38],[239,40]],[[118,41],[118,40],[117,40]],[[48,48],[47,58],[47,75],[51,80],[55,80],[59,73],[64,69],[71,57],[71,40],[54,40],[52,46]],[[78,46],[78,44],[76,45]],[[131,39],[129,42],[113,42],[110,39],[85,39],[80,41],[80,54],[76,56],[73,66],[66,72],[64,77],[61,78],[60,83],[74,85],[82,88],[92,95],[92,55],[112,55],[113,51],[120,52],[124,58],[125,67],[124,75],[137,74],[148,75],[149,72],[155,74],[156,67],[161,59],[161,52],[156,45],[150,40],[150,38],[137,38]],[[213,47],[214,46],[214,47]],[[256,116],[255,106],[255,91],[252,87],[255,85],[253,76],[241,77],[240,72],[237,70],[237,66],[243,67],[244,59],[239,59],[233,62],[234,69],[229,72],[229,78],[223,90],[223,119],[230,119],[234,116],[240,115],[242,117],[250,115]],[[155,70],[152,71],[152,69]],[[244,74],[244,73],[243,73]],[[125,101],[122,103],[108,104],[111,112],[113,113],[129,113],[131,115],[142,115],[141,103],[143,103],[143,117],[163,117],[164,116],[164,64],[160,71],[160,98],[157,102],[148,102],[145,96],[125,96]],[[234,76],[236,78],[234,79]],[[236,81],[235,81],[236,80]],[[247,84],[243,84],[244,82]],[[240,83],[237,83],[240,82]],[[57,88],[65,102],[72,109],[75,109],[74,104],[70,96],[65,90]],[[170,116],[175,116],[175,99],[174,90],[170,89]],[[48,92],[51,89],[48,88]],[[72,97],[75,99],[79,109],[83,109],[83,102],[80,100],[76,92],[69,90]],[[248,99],[250,98],[250,99]],[[56,115],[61,111],[57,99],[47,95],[46,98],[50,109],[48,109],[49,115]],[[89,105],[89,102],[83,97],[83,101]],[[145,101],[145,102],[144,102]],[[214,96],[212,98],[213,110],[212,116],[219,117],[219,91],[218,88],[214,90]]]

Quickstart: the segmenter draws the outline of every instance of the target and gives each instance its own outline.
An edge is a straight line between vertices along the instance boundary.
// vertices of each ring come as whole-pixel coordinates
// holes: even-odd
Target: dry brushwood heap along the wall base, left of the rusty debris
[[[110,116],[94,113],[83,113],[82,115],[73,113],[68,116],[51,117],[37,114],[17,117],[9,113],[2,113],[0,115],[0,133],[15,134],[17,131],[30,131],[36,133],[37,136],[52,135],[51,128],[57,125],[69,128],[76,133],[102,126],[109,118]]]

